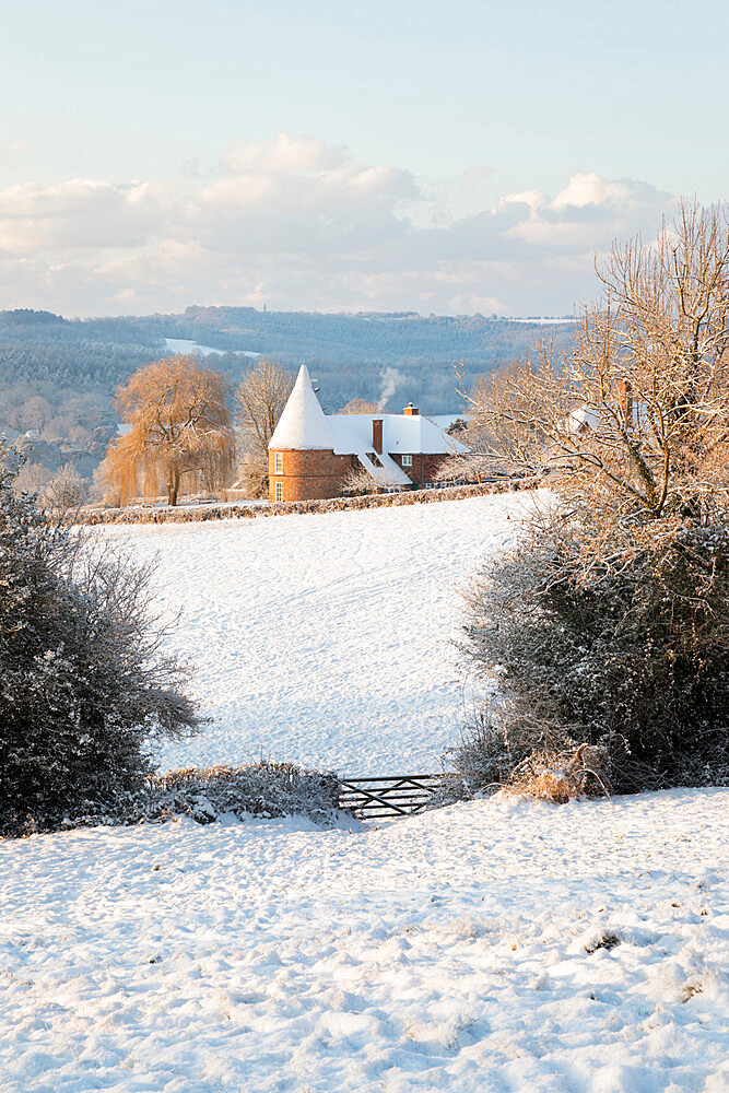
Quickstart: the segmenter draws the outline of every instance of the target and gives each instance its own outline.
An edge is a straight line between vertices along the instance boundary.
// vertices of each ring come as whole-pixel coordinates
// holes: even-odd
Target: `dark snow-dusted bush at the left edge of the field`
[[[150,745],[197,726],[187,672],[162,651],[152,571],[49,521],[0,450],[0,827],[52,826],[130,790]]]

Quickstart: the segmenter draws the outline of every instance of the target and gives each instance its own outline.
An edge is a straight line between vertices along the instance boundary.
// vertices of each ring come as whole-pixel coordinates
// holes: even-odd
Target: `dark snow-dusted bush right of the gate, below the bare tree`
[[[587,743],[618,791],[729,781],[729,530],[596,520],[534,519],[472,585],[462,649],[504,703],[456,765]]]

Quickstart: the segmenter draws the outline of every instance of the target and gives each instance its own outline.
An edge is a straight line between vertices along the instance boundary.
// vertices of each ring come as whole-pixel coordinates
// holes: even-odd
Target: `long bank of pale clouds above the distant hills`
[[[208,171],[0,189],[0,291],[7,306],[82,315],[263,302],[564,314],[595,295],[595,252],[651,237],[674,208],[646,183],[580,173],[553,198],[527,189],[454,216],[403,167],[280,134],[238,141]]]

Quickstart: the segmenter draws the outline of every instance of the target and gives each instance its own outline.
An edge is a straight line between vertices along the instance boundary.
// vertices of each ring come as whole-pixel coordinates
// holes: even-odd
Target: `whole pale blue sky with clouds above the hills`
[[[0,307],[571,314],[727,198],[729,8],[3,0]]]

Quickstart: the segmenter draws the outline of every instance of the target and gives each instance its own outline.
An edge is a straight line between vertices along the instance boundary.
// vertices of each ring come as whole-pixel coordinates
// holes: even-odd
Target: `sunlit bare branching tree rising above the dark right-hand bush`
[[[618,510],[694,514],[729,489],[729,225],[684,203],[656,245],[615,244],[572,350],[463,392],[514,470]]]

